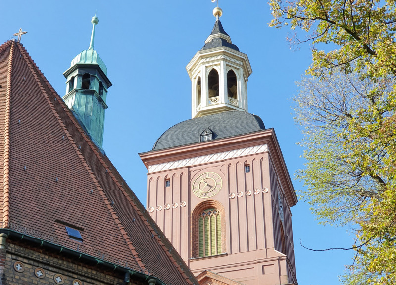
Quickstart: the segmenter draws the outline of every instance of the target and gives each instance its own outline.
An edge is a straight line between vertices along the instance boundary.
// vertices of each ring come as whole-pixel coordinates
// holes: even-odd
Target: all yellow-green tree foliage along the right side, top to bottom
[[[307,159],[297,177],[323,223],[356,228],[346,284],[396,284],[395,3],[270,0],[270,25],[302,29],[291,43],[313,44],[295,98]],[[318,49],[328,43],[335,49]]]

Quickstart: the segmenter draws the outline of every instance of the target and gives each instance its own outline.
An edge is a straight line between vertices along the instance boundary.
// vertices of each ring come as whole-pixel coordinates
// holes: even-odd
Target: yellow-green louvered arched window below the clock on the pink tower
[[[199,257],[221,254],[221,217],[218,210],[206,209],[199,215]]]

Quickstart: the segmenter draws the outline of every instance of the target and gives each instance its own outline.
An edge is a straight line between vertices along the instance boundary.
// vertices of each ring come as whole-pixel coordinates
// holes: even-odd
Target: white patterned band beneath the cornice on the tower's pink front
[[[202,155],[202,156],[183,159],[183,160],[177,160],[177,161],[171,161],[171,162],[167,162],[167,163],[151,165],[151,166],[148,166],[148,173],[153,173],[153,172],[158,172],[158,171],[163,171],[163,170],[170,170],[170,169],[175,169],[175,168],[179,168],[179,167],[199,165],[202,163],[215,162],[215,161],[225,160],[225,159],[229,159],[229,158],[241,157],[241,156],[245,156],[245,155],[249,155],[249,154],[262,153],[262,152],[266,152],[266,151],[268,151],[268,146],[266,144],[262,144],[262,145],[240,148],[240,149],[231,150],[231,151]]]

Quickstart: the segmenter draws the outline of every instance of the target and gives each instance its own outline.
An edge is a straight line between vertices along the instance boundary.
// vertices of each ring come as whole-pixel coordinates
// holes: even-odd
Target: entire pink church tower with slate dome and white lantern
[[[201,285],[297,285],[297,203],[274,129],[247,112],[247,55],[220,16],[187,65],[192,119],[140,157],[147,209]]]

